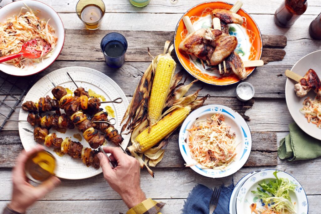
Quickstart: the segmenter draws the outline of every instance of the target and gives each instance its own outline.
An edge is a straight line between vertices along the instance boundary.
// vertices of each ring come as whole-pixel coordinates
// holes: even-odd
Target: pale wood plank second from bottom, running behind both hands
[[[146,170],[141,171],[141,185],[147,197],[155,199],[163,198],[186,198],[189,191],[196,184],[204,184],[213,188],[215,185],[224,183],[230,184],[232,177],[234,182],[238,182],[249,172],[258,169],[278,169],[286,171],[294,176],[303,186],[307,194],[320,194],[321,186],[313,185],[320,178],[321,158],[290,163],[284,161],[284,165],[274,167],[244,167],[233,175],[225,178],[208,178],[195,173],[189,168],[153,168],[155,178],[152,178]],[[0,169],[1,200],[10,200],[12,191],[11,170]],[[78,180],[64,180],[62,184],[53,192],[48,193],[45,200],[110,200],[120,199],[114,192],[103,175],[92,178]]]

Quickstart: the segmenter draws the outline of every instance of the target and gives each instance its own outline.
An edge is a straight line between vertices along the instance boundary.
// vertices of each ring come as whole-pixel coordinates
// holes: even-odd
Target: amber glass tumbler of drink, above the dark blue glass
[[[88,30],[99,28],[105,9],[102,0],[79,0],[76,5],[76,13]]]

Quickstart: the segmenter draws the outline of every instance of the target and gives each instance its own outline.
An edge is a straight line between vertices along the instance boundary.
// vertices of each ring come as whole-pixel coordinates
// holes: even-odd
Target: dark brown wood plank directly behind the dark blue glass
[[[104,55],[101,53],[100,40],[112,30],[66,30],[65,45],[57,60],[86,60],[86,61],[104,61]],[[128,41],[126,52],[126,61],[150,62],[151,56],[147,54],[149,47],[152,55],[157,55],[163,48],[166,40],[174,37],[173,31],[118,31],[123,34]],[[278,42],[277,36],[265,35],[263,47],[280,47],[284,45],[284,37]],[[151,38],[157,38],[155,41]],[[286,39],[286,38],[285,38]],[[81,46],[79,46],[81,44]],[[265,48],[263,48],[264,50]],[[81,50],[81,51],[80,51]],[[283,55],[279,53],[282,52]],[[263,52],[262,60],[268,56],[268,61],[279,61],[285,55],[284,50],[268,48]],[[173,58],[177,60],[175,53]]]

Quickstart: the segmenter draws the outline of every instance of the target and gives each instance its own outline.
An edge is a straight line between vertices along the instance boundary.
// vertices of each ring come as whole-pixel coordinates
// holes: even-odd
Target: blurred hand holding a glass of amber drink
[[[12,171],[12,200],[8,205],[14,211],[24,213],[30,205],[60,184],[60,180],[56,176],[52,176],[37,187],[28,183],[28,178],[24,172],[26,161],[30,155],[41,150],[44,150],[44,147],[37,145],[28,152],[23,150],[17,158],[16,166]]]

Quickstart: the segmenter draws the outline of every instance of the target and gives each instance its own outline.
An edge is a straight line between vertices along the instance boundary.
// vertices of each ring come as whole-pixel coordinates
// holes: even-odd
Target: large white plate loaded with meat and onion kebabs
[[[122,102],[116,103],[120,98]],[[115,99],[116,102],[100,103]],[[19,114],[22,145],[25,150],[38,143],[46,145],[46,150],[56,157],[55,173],[60,178],[98,175],[102,172],[98,146],[120,144],[126,148],[129,142],[130,135],[117,131],[127,107],[126,95],[105,74],[85,67],[58,69],[34,84],[22,102]],[[28,122],[23,121],[27,119]]]

